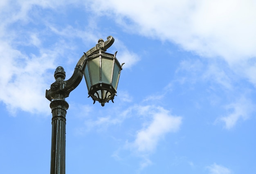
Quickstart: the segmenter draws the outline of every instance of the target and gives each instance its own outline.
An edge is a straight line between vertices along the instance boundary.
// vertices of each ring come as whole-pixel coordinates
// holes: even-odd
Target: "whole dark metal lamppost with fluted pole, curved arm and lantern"
[[[51,101],[52,109],[52,148],[50,174],[65,174],[65,143],[66,143],[66,113],[68,109],[65,98],[74,90],[85,77],[88,88],[88,97],[94,103],[99,101],[101,106],[113,99],[117,93],[117,84],[122,70],[122,65],[116,59],[116,53],[106,53],[114,43],[112,36],[107,41],[102,39],[98,44],[83,54],[76,64],[72,77],[65,79],[63,67],[58,66],[54,73],[56,81],[46,90],[45,97]],[[93,104],[94,104],[93,103]]]

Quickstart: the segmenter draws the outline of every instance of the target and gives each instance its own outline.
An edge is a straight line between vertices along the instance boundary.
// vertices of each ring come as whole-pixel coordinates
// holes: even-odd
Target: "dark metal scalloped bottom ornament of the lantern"
[[[110,100],[114,103],[114,97],[116,95],[116,91],[111,84],[96,84],[91,86],[89,90],[89,96],[93,99],[93,104],[96,101],[101,103],[101,106],[105,106],[105,103],[108,103]]]

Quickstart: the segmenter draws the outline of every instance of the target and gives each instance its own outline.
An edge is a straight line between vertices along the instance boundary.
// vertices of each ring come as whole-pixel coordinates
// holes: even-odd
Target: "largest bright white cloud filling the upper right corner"
[[[252,0],[95,0],[94,11],[129,19],[132,29],[229,62],[256,56],[256,3]],[[143,9],[143,10],[141,10]],[[128,22],[127,22],[128,23]]]

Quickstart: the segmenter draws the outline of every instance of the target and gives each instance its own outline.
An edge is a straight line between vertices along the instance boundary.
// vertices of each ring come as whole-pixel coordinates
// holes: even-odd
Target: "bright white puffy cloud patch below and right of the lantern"
[[[151,165],[150,155],[155,152],[157,146],[164,137],[177,132],[182,123],[182,117],[171,115],[169,110],[160,106],[134,106],[134,112],[144,118],[142,128],[137,130],[134,140],[126,141],[125,149],[141,158],[139,170]],[[130,113],[130,112],[129,112]]]

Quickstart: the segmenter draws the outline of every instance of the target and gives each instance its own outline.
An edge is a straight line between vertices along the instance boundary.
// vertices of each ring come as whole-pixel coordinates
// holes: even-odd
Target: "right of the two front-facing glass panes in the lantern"
[[[101,62],[102,82],[105,84],[110,84],[113,71],[113,59],[102,57]]]

